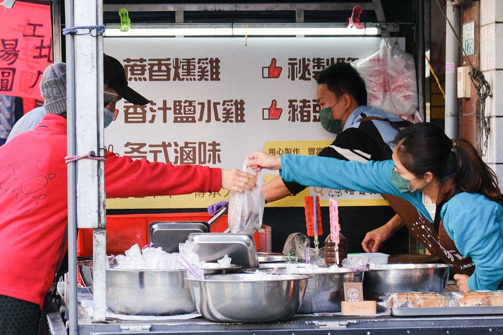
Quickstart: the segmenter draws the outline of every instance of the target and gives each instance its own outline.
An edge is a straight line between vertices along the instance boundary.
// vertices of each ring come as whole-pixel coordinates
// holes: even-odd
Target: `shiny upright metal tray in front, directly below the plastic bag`
[[[259,267],[255,240],[249,234],[192,233],[189,240],[199,245],[197,254],[202,261],[214,262],[229,255],[232,264],[243,269]]]

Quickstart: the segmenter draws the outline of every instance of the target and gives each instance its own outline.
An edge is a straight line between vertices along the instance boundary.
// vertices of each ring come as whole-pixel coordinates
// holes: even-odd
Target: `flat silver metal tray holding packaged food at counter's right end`
[[[503,306],[389,308],[394,316],[503,314]]]

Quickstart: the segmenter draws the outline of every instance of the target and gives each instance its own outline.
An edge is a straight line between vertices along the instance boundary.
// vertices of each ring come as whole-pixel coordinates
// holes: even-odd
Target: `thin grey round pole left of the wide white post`
[[[65,0],[65,25],[73,26],[73,0]],[[66,133],[67,154],[75,155],[75,53],[74,37],[66,35]],[[76,164],[67,166],[68,173],[68,315],[69,334],[78,334],[77,320],[77,203]]]

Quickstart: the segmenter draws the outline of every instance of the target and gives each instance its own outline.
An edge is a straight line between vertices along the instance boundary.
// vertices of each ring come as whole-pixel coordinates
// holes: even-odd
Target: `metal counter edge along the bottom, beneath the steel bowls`
[[[63,334],[64,322],[53,306],[49,314],[52,334]],[[63,307],[64,309],[64,307]],[[54,329],[54,330],[53,330]],[[468,315],[436,317],[396,316],[296,316],[282,322],[236,323],[212,322],[197,317],[170,321],[107,320],[94,323],[79,305],[79,335],[99,334],[479,334],[503,333],[503,315]]]

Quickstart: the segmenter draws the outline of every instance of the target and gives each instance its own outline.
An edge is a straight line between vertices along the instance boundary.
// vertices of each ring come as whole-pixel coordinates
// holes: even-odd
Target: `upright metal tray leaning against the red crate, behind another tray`
[[[189,239],[192,233],[207,233],[206,222],[153,221],[148,225],[148,238],[153,247],[161,247],[167,253],[178,253],[178,245]]]

